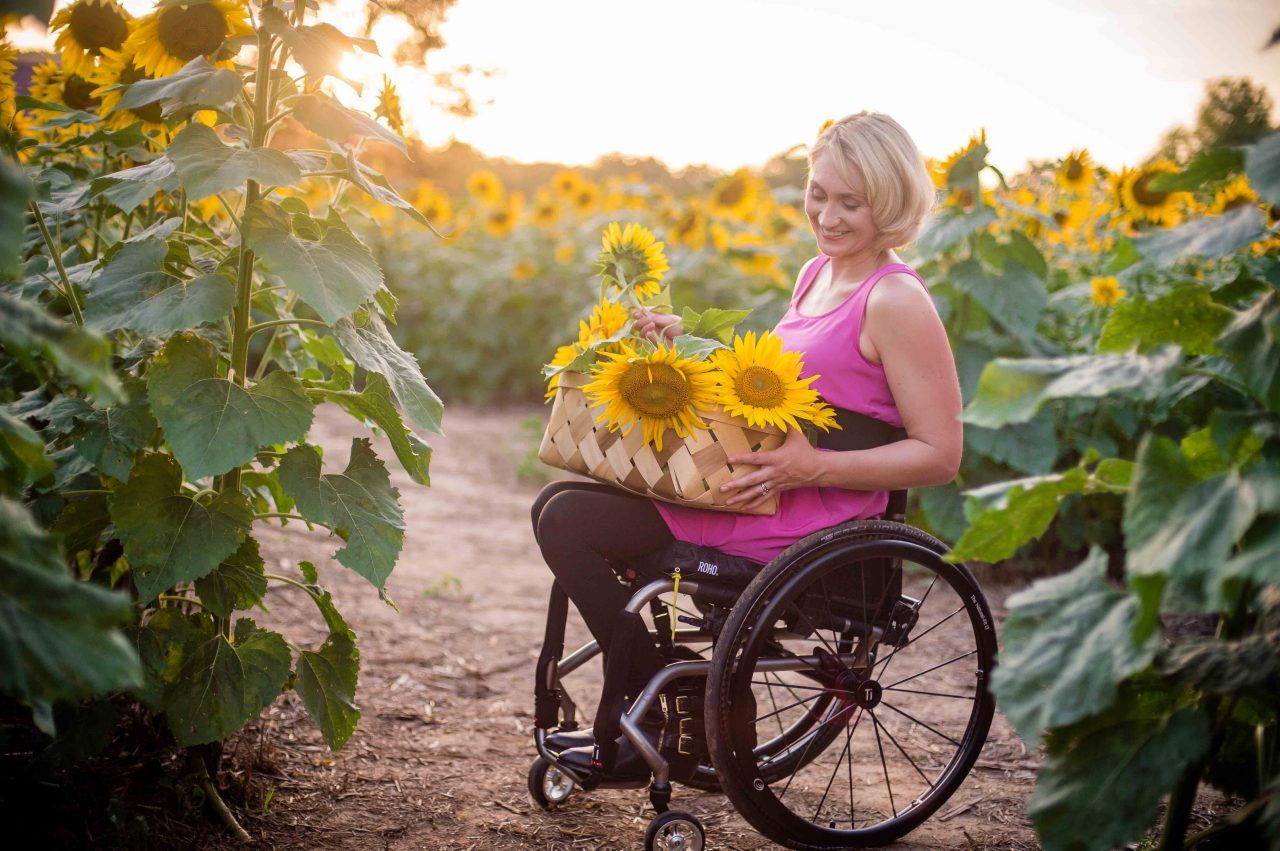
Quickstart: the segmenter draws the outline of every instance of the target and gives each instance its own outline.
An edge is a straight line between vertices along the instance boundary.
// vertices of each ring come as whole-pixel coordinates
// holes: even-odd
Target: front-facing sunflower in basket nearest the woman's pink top
[[[801,379],[800,353],[783,352],[782,339],[772,331],[759,339],[755,331],[735,335],[733,348],[717,349],[712,362],[719,369],[716,401],[726,413],[744,417],[754,427],[786,431],[788,425],[799,429],[800,420],[823,429],[835,422],[835,411],[809,386],[818,376]]]

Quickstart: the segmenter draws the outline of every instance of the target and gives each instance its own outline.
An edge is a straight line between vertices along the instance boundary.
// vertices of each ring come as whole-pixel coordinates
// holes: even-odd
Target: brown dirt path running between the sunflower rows
[[[312,561],[360,636],[364,713],[332,754],[289,692],[228,744],[228,797],[262,847],[641,847],[652,816],[641,791],[577,795],[554,814],[525,791],[531,668],[549,587],[529,523],[538,489],[515,475],[529,413],[541,410],[451,408],[449,435],[433,440],[430,489],[394,467],[385,440],[375,441],[406,508],[404,550],[388,582],[398,613],[330,558],[340,543],[323,531],[291,525],[262,534],[269,568],[294,575],[298,561]],[[320,410],[312,440],[325,448],[326,470],[346,463],[355,433],[346,415]],[[1000,618],[1004,594],[991,595]],[[268,605],[270,614],[255,614],[260,623],[297,645],[323,641],[323,622],[301,591],[271,591]],[[571,646],[585,639],[571,617]],[[1036,847],[1023,816],[1033,765],[997,715],[970,778],[895,847]],[[703,818],[710,847],[776,847],[721,796],[677,787],[673,806]]]

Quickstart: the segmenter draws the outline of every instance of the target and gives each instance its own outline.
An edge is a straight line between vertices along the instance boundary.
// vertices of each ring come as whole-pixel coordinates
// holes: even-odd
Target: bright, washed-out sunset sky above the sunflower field
[[[338,0],[325,18],[355,32],[362,5]],[[984,127],[991,161],[1016,171],[1082,146],[1133,164],[1194,120],[1211,77],[1252,77],[1280,101],[1280,47],[1261,50],[1277,24],[1272,0],[458,0],[430,69],[498,72],[470,84],[476,118],[431,109],[422,72],[347,68],[389,70],[428,143],[522,161],[759,165],[870,109],[929,156]],[[402,29],[375,37],[389,58]]]

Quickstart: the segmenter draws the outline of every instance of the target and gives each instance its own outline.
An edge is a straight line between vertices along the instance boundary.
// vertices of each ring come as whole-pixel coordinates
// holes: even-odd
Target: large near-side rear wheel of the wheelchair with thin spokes
[[[707,686],[716,775],[792,848],[886,845],[934,813],[977,760],[996,636],[946,545],[887,521],[797,541],[746,587]]]

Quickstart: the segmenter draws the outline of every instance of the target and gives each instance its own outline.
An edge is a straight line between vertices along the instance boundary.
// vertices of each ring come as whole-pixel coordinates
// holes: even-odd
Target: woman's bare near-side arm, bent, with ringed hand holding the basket
[[[960,383],[933,301],[916,280],[888,276],[868,298],[867,322],[908,438],[874,449],[819,452],[799,433],[788,433],[778,449],[730,458],[730,463],[760,466],[723,486],[745,489],[728,499],[730,504],[763,502],[765,495],[758,493],[762,481],[771,490],[815,485],[897,490],[941,485],[955,477],[964,450]]]

